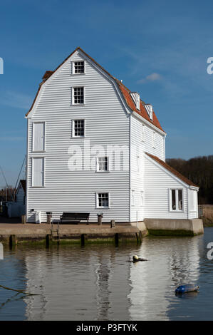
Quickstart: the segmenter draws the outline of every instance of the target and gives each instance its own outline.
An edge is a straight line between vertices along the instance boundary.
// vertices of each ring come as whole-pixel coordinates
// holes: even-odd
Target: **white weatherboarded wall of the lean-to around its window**
[[[170,189],[183,189],[183,211],[170,211]],[[145,218],[187,219],[187,190],[182,182],[169,175],[145,155]]]

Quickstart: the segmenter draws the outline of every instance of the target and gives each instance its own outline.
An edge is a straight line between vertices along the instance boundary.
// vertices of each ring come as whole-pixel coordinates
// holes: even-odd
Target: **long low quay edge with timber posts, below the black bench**
[[[58,225],[47,224],[1,224],[0,242],[3,244],[85,244],[85,243],[115,243],[142,242],[147,231],[137,227],[117,225]]]

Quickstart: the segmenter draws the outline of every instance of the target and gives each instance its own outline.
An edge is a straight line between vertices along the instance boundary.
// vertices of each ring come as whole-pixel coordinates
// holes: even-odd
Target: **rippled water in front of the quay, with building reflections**
[[[204,235],[145,238],[142,245],[4,248],[0,320],[213,320],[213,260]],[[131,263],[138,254],[148,262]],[[199,293],[175,297],[183,283]]]

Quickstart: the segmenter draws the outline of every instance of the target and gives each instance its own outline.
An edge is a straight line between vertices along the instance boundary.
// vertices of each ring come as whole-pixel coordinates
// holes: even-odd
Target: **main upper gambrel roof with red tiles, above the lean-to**
[[[67,61],[68,58],[70,58],[74,52],[76,52],[77,50],[80,50],[81,52],[83,52],[85,54],[85,56],[87,56],[88,58],[90,58],[91,61],[93,61],[95,64],[97,64],[100,68],[102,68],[103,71],[105,71],[105,73],[108,74],[108,76],[110,76],[111,78],[113,78],[113,80],[118,84],[118,88],[120,89],[120,92],[123,95],[123,98],[125,99],[125,102],[127,103],[128,107],[130,108],[130,110],[133,110],[134,112],[136,112],[137,114],[139,114],[140,116],[142,116],[142,118],[145,118],[145,120],[147,120],[148,122],[150,122],[152,125],[155,125],[155,127],[159,128],[160,130],[162,130],[161,125],[159,123],[159,121],[157,120],[157,116],[155,115],[155,112],[153,111],[153,115],[152,115],[152,120],[150,119],[149,115],[147,114],[147,111],[145,110],[144,107],[144,103],[142,102],[142,100],[140,100],[140,110],[137,110],[135,103],[133,102],[132,97],[130,96],[131,91],[125,87],[123,85],[123,83],[121,83],[121,81],[118,81],[117,78],[113,77],[108,71],[105,70],[105,68],[103,68],[103,66],[100,66],[100,64],[98,64],[92,57],[90,57],[87,53],[85,53],[85,51],[83,51],[82,48],[80,48],[78,46],[78,48],[76,48],[57,68],[55,71],[46,71],[46,73],[44,73],[43,75],[43,81],[42,83],[39,84],[39,88],[38,91],[36,93],[36,98],[38,96],[38,93],[41,89],[41,86],[43,85],[43,83],[52,76],[53,73],[55,73],[58,68],[60,68],[60,66],[63,65],[63,63],[65,63]],[[28,113],[30,113],[30,111],[33,108],[33,105],[36,101],[36,98],[33,100],[33,103],[31,105],[31,108],[28,110]],[[28,115],[28,113],[26,113],[26,116]],[[164,130],[162,130],[164,131]]]

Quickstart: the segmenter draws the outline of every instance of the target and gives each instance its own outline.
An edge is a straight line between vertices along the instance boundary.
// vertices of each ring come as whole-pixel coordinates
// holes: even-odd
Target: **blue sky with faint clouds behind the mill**
[[[167,158],[211,155],[212,10],[211,0],[1,1],[0,165],[9,184],[24,159],[24,115],[38,83],[76,46],[152,103]]]

